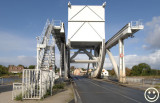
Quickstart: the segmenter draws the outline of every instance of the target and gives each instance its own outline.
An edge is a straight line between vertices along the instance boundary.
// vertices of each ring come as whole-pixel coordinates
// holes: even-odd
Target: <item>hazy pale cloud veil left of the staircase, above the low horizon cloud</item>
[[[36,50],[36,39],[0,31],[0,48],[1,53],[4,54],[6,51],[34,51]]]

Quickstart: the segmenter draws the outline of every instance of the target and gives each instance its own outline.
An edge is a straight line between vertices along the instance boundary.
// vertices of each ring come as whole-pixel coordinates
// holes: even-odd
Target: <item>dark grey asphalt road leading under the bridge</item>
[[[84,77],[73,77],[73,80],[82,103],[147,103],[141,90]],[[160,99],[155,103],[160,103]]]

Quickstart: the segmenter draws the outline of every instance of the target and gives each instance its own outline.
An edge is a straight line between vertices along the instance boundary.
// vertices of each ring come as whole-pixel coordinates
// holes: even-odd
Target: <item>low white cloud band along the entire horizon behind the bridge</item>
[[[55,54],[56,57],[56,65],[60,67],[60,54],[57,51]],[[119,65],[119,56],[114,56],[117,64]],[[78,55],[76,59],[81,60],[88,60],[88,57],[85,55]],[[134,55],[125,55],[125,65],[126,67],[132,68],[132,66],[137,65],[139,63],[147,63],[151,66],[153,69],[160,69],[160,50],[156,50],[153,53],[150,53],[149,55],[140,56],[137,54]],[[17,56],[17,57],[3,57],[0,58],[0,64],[2,65],[18,65],[22,64],[25,66],[29,65],[36,65],[36,57],[33,56]],[[71,66],[75,66],[76,68],[87,68],[87,63],[71,63]],[[92,67],[92,64],[90,64],[90,68]],[[112,69],[112,63],[110,62],[109,58],[106,57],[104,62],[104,68],[105,69]]]

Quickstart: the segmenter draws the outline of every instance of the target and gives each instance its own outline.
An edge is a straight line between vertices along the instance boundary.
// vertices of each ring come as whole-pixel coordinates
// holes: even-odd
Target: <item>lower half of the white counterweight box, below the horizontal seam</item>
[[[72,28],[70,31],[68,31],[68,33],[71,34],[68,35],[68,39],[70,39],[70,41],[100,42],[102,39],[105,39],[103,22],[83,22],[81,26],[79,24],[81,23],[69,23],[69,28]],[[78,26],[80,27],[77,28]]]

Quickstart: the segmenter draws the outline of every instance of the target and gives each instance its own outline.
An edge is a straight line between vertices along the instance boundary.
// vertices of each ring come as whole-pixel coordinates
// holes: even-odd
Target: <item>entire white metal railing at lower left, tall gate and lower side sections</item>
[[[52,95],[55,77],[52,70],[24,69],[22,83],[13,83],[12,99],[18,95],[22,99],[41,99],[47,92]]]

